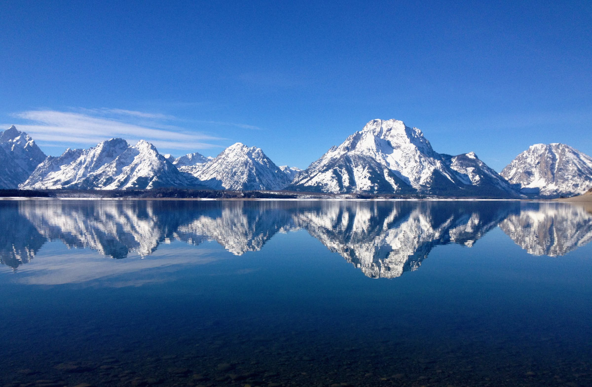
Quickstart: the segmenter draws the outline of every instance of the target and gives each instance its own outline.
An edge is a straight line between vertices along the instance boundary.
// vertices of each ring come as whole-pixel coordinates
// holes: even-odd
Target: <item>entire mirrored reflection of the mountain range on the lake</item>
[[[16,269],[47,240],[122,259],[160,244],[217,241],[241,255],[276,233],[307,230],[366,276],[416,270],[435,246],[471,247],[500,226],[530,254],[558,256],[592,240],[592,215],[519,202],[16,201],[0,205],[0,262]]]

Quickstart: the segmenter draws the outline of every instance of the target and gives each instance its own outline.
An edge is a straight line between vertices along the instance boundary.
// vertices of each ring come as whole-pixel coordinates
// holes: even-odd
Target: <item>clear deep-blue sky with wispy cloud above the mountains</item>
[[[374,118],[498,172],[592,155],[592,4],[562,3],[0,1],[0,124],[54,155],[240,141],[302,168]]]

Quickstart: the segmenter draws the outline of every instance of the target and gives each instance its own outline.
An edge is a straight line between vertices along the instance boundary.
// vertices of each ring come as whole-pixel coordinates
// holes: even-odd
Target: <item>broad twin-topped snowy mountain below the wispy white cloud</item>
[[[67,149],[61,156],[47,157],[20,188],[150,189],[191,186],[192,180],[152,144],[140,140],[128,146],[123,138],[111,138],[90,149]]]

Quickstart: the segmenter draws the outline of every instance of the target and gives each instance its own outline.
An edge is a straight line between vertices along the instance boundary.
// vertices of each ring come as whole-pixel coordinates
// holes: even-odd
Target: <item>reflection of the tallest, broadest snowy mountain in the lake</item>
[[[433,247],[472,246],[515,208],[488,202],[325,205],[302,211],[299,224],[372,278],[416,270]]]

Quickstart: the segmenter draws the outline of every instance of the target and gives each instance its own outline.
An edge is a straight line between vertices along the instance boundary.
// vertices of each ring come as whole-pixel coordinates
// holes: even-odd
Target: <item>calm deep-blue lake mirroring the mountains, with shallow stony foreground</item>
[[[590,386],[592,214],[0,201],[0,385]]]

